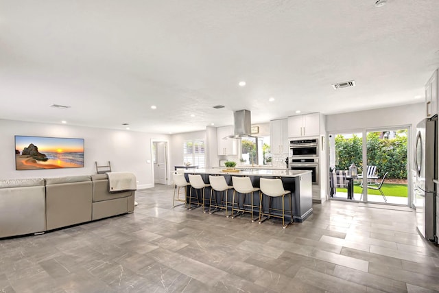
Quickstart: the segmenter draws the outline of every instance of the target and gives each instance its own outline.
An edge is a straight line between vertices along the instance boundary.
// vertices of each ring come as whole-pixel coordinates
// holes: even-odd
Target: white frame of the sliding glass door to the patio
[[[329,148],[329,136],[330,135],[336,135],[336,134],[355,134],[355,133],[361,133],[362,135],[362,161],[363,162],[367,162],[367,134],[368,132],[377,132],[377,131],[383,131],[383,130],[400,130],[400,129],[407,129],[407,205],[403,204],[403,206],[407,206],[407,207],[412,207],[412,201],[413,201],[413,194],[412,194],[412,165],[413,165],[413,161],[412,161],[412,153],[413,153],[413,143],[412,143],[412,126],[410,124],[405,124],[405,125],[401,125],[401,126],[381,126],[381,127],[376,127],[376,128],[361,128],[361,129],[353,129],[353,130],[334,130],[331,132],[327,132],[327,141],[328,141],[328,148],[327,148],[327,173],[328,173],[328,180],[329,180],[329,167],[330,167],[330,163],[331,160],[329,158],[330,156],[330,148]],[[364,163],[363,163],[364,166]],[[363,177],[363,186],[367,186],[367,177]],[[330,187],[329,184],[327,185],[327,199],[328,200],[344,200],[344,199],[340,199],[340,198],[331,198],[331,196],[329,196],[330,194]],[[358,201],[358,202],[364,202],[364,203],[368,203],[368,191],[367,188],[363,189],[363,200]],[[347,199],[346,199],[347,201]],[[352,200],[349,200],[352,201]],[[357,201],[353,201],[353,202],[357,202]],[[385,203],[381,203],[381,202],[373,202],[374,204],[385,204]],[[389,204],[389,205],[398,205],[398,204]]]

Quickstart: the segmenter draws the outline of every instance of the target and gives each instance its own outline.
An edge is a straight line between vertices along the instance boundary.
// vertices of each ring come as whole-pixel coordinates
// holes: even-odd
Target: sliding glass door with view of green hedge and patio
[[[409,133],[379,128],[329,134],[330,198],[408,205]],[[356,176],[350,168],[357,168]]]

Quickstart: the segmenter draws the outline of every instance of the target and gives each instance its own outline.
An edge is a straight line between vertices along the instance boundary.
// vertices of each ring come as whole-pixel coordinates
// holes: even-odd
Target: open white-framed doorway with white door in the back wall
[[[154,176],[154,184],[168,185],[169,183],[169,152],[168,142],[152,139],[152,168]]]

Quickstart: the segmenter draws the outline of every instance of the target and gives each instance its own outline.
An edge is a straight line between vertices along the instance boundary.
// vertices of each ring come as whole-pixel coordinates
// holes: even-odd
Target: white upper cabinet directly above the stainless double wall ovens
[[[316,137],[319,134],[319,113],[288,117],[288,137]]]

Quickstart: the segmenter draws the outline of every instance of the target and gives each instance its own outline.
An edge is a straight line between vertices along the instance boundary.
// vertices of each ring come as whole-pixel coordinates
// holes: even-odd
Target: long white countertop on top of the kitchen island
[[[226,169],[225,167],[223,168]],[[283,176],[283,177],[297,177],[307,173],[311,173],[311,171],[305,170],[279,170],[279,169],[253,169],[251,171],[248,170],[239,170],[239,172],[226,172],[222,171],[223,169],[187,169],[185,173],[190,174],[228,174],[228,175],[249,175],[249,176]]]

